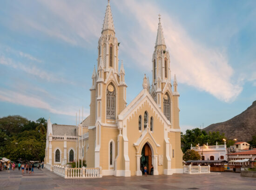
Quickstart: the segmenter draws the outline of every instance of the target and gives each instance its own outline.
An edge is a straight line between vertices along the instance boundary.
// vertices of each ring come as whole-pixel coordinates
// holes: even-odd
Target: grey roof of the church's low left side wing
[[[76,127],[74,125],[52,125],[53,127],[53,135],[67,135],[67,136],[75,136],[76,135]]]

